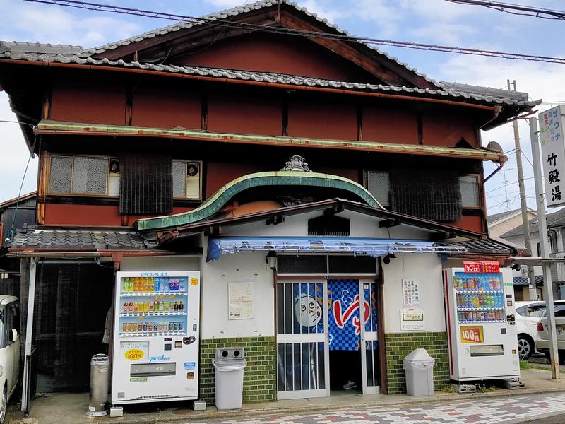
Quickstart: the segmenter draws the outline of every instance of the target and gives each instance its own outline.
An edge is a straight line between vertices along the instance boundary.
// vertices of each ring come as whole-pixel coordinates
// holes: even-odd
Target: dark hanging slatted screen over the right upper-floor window
[[[409,168],[391,170],[391,208],[429,220],[459,220],[463,206],[458,172]]]

